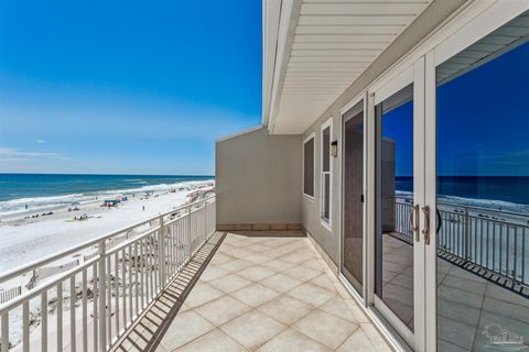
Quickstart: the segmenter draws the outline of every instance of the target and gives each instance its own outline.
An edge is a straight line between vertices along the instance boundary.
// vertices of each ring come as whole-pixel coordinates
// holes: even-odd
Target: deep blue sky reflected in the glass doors
[[[529,43],[438,88],[438,174],[529,176]],[[450,62],[447,62],[450,64]],[[384,117],[397,176],[413,170],[412,102]]]

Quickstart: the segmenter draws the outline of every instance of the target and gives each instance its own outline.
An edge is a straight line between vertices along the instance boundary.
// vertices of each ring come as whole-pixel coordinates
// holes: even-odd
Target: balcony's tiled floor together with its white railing
[[[307,238],[216,232],[214,198],[0,283],[23,279],[0,306],[2,352],[390,350]]]

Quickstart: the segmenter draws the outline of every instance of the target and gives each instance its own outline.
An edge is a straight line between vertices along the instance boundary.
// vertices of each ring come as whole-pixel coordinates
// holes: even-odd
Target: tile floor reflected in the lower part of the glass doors
[[[413,323],[413,246],[384,237],[382,297],[408,326]],[[485,331],[497,324],[522,336],[529,349],[529,299],[438,258],[438,349],[490,351]]]

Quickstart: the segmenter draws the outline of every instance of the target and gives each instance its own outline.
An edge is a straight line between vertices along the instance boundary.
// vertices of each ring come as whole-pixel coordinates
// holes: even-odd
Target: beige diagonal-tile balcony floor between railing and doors
[[[390,351],[306,238],[229,233],[156,351]]]

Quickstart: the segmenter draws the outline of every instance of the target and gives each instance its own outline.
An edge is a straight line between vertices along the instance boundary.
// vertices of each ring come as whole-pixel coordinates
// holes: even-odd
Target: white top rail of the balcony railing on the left
[[[132,230],[132,229],[134,229],[134,228],[141,227],[141,226],[143,226],[143,224],[145,224],[145,223],[148,223],[148,222],[150,222],[150,221],[158,220],[158,219],[160,219],[160,217],[165,217],[165,216],[171,215],[171,213],[173,213],[173,212],[175,212],[175,211],[180,211],[180,210],[183,210],[183,209],[185,209],[185,208],[193,207],[193,206],[195,206],[195,205],[201,205],[201,204],[207,202],[207,201],[209,201],[209,200],[214,200],[214,199],[215,199],[215,196],[212,196],[212,197],[207,197],[207,198],[204,198],[204,199],[201,199],[201,200],[191,202],[191,204],[182,205],[182,206],[180,206],[180,207],[177,207],[177,208],[175,208],[175,209],[172,209],[172,210],[162,212],[162,213],[156,215],[156,216],[154,216],[154,217],[151,217],[151,218],[149,218],[149,219],[141,220],[141,221],[136,222],[136,223],[133,223],[133,224],[131,224],[131,226],[128,226],[128,227],[126,227],[126,228],[122,228],[122,229],[112,231],[112,232],[110,232],[110,233],[100,235],[100,237],[95,238],[95,239],[93,239],[93,240],[88,240],[88,241],[86,241],[86,242],[83,242],[83,243],[77,244],[77,245],[75,245],[75,246],[72,246],[72,248],[69,248],[69,249],[66,249],[66,250],[61,251],[61,252],[58,252],[58,253],[50,254],[50,255],[47,255],[47,256],[44,256],[43,258],[36,260],[36,261],[34,261],[34,262],[30,262],[30,263],[24,264],[24,265],[21,265],[21,266],[18,266],[18,267],[15,267],[15,268],[13,268],[13,270],[10,270],[10,271],[8,271],[8,272],[6,272],[6,273],[1,273],[1,274],[0,274],[0,284],[1,284],[1,283],[4,283],[4,282],[7,282],[7,280],[9,280],[9,279],[11,279],[11,278],[14,278],[14,277],[17,277],[17,276],[19,276],[19,275],[21,275],[21,274],[28,273],[28,272],[32,271],[32,270],[35,268],[35,267],[45,265],[45,264],[47,264],[47,263],[55,262],[55,261],[60,260],[60,258],[63,257],[63,256],[69,255],[69,254],[72,254],[72,253],[78,252],[78,251],[84,250],[84,249],[87,249],[87,248],[90,248],[90,246],[93,246],[93,245],[95,245],[95,244],[97,244],[97,243],[99,243],[99,242],[101,242],[101,241],[106,241],[106,240],[108,240],[108,239],[110,239],[110,238],[114,238],[114,237],[120,234],[120,233],[123,233],[123,232],[130,231],[130,230]]]

